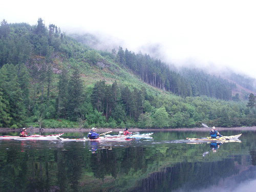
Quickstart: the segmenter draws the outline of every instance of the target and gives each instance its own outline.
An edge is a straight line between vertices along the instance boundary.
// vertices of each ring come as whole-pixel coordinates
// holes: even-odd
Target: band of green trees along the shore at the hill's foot
[[[152,92],[145,87],[107,84],[97,81],[84,87],[79,69],[63,68],[56,95],[33,90],[24,65],[4,65],[0,69],[1,126],[21,127],[43,119],[82,120],[82,127],[194,127],[201,122],[216,126],[255,125],[255,96],[249,101],[224,101],[209,97],[182,98]],[[46,75],[46,79],[48,76]],[[45,83],[46,87],[48,83]],[[32,87],[32,89],[31,89]],[[31,94],[31,91],[37,93]],[[53,126],[49,125],[49,126]]]

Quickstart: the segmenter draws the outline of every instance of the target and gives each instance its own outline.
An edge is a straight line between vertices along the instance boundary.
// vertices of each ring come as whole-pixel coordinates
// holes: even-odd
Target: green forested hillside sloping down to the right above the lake
[[[1,22],[0,67],[3,127],[256,124],[255,104],[233,99],[234,83],[199,70],[173,71],[122,47],[94,50],[41,18],[35,26]]]

